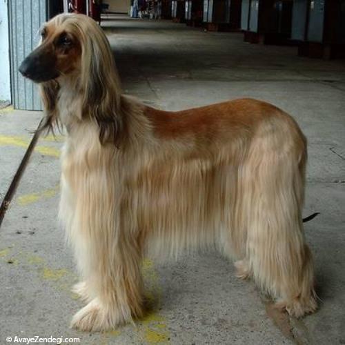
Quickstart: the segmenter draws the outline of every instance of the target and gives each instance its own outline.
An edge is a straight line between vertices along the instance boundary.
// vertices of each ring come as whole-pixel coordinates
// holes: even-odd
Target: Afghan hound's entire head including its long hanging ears
[[[80,97],[81,111],[77,113],[99,124],[101,141],[106,127],[114,127],[112,132],[116,135],[119,77],[108,39],[90,17],[59,14],[43,24],[39,46],[24,59],[19,72],[40,84],[45,127],[51,128],[52,122],[58,120],[57,95],[69,87],[69,92]]]

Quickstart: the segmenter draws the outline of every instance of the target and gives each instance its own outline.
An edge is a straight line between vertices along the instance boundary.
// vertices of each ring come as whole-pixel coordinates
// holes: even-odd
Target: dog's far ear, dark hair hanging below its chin
[[[39,92],[41,94],[45,117],[38,130],[46,130],[47,132],[52,130],[52,132],[54,132],[54,125],[59,126],[59,117],[57,114],[57,94],[59,92],[59,83],[55,80],[40,83]]]

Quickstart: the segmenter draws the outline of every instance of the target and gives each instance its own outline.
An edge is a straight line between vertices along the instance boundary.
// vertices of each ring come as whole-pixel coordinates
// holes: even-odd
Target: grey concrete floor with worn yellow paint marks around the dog
[[[297,57],[296,48],[244,43],[165,21],[105,21],[126,92],[177,110],[226,99],[270,101],[308,137],[305,225],[315,256],[317,313],[274,313],[252,282],[217,253],[145,260],[152,313],[104,334],[68,328],[83,304],[57,226],[61,137],[41,139],[0,230],[0,344],[6,337],[79,337],[81,344],[345,344],[345,66]],[[40,113],[0,110],[0,193],[6,192]],[[72,343],[71,343],[72,344]]]

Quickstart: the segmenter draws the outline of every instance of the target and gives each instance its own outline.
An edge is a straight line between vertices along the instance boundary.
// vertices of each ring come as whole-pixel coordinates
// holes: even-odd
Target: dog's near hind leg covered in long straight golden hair
[[[295,317],[316,309],[313,260],[302,228],[304,145],[262,137],[248,157],[246,257],[253,279]],[[279,150],[273,150],[279,148]]]

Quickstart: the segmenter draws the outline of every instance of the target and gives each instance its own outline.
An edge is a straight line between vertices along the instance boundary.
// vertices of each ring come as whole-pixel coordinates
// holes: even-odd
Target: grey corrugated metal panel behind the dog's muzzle
[[[10,19],[11,88],[14,108],[42,110],[37,86],[24,79],[18,68],[39,42],[39,27],[48,19],[46,0],[14,0],[8,3]]]

